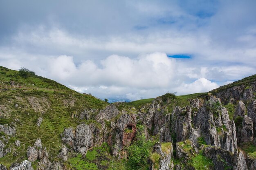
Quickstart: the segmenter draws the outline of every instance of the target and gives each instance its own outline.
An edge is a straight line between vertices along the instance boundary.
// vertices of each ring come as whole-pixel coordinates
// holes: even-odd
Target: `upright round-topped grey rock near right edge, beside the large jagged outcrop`
[[[240,142],[248,142],[254,140],[254,130],[253,130],[253,122],[252,119],[245,115],[242,124],[241,130],[241,139]]]

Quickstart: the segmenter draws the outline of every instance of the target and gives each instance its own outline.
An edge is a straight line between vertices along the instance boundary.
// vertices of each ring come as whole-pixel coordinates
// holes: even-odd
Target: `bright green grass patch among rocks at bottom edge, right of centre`
[[[202,152],[192,157],[192,166],[195,170],[212,170],[214,168],[212,160],[202,155]]]

